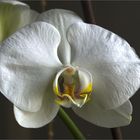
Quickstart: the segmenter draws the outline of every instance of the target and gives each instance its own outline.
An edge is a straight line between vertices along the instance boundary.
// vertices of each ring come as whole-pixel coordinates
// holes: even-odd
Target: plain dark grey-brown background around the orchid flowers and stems
[[[32,9],[39,12],[42,11],[40,1],[25,2]],[[140,1],[92,1],[92,4],[96,23],[126,39],[140,56]],[[47,9],[52,8],[69,9],[84,18],[80,1],[48,1]],[[140,138],[139,98],[140,95],[138,92],[131,98],[134,107],[133,121],[129,126],[122,128],[125,139]],[[79,118],[70,109],[67,111],[87,138],[111,138],[110,129],[97,127]],[[54,138],[72,138],[59,117],[56,117],[53,121],[53,129]],[[31,139],[47,138],[47,136],[48,126],[40,129],[25,129],[20,127],[14,119],[12,104],[0,94],[0,138]]]

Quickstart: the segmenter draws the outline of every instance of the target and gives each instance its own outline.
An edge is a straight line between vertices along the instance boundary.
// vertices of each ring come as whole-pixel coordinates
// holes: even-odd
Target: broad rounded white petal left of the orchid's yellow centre
[[[57,57],[58,31],[50,24],[33,23],[2,42],[0,91],[18,108],[37,111],[61,65]]]

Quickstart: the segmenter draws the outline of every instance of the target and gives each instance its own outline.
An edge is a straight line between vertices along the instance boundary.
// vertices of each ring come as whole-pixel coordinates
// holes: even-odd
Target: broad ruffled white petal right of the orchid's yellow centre
[[[94,99],[104,108],[126,102],[140,86],[140,61],[129,44],[96,25],[73,24],[67,33],[72,65],[93,75]]]

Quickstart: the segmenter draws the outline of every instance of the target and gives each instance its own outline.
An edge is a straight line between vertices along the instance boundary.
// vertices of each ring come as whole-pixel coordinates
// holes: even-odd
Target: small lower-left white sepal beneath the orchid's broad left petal
[[[59,106],[54,102],[53,95],[52,91],[45,94],[42,106],[37,112],[25,112],[14,106],[17,122],[26,128],[39,128],[51,122],[59,110]]]

